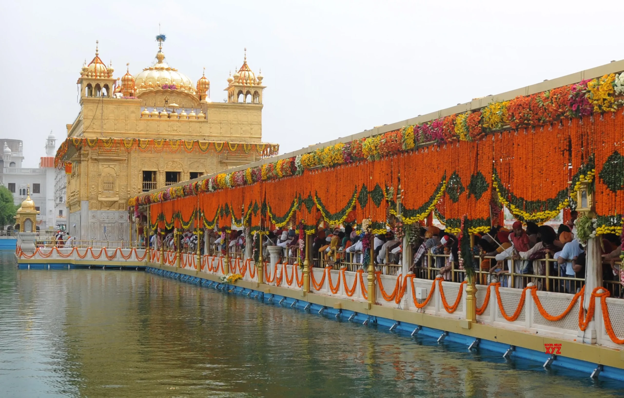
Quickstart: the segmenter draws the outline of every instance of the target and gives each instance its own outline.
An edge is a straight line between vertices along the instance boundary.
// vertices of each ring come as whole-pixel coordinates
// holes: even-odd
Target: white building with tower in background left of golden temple
[[[39,168],[22,167],[24,160],[22,140],[0,139],[2,160],[0,160],[0,183],[13,193],[16,205],[26,198],[26,190],[30,188],[31,198],[37,205],[37,227],[40,230],[57,228],[64,224],[66,216],[65,198],[61,206],[56,205],[55,182],[59,171],[54,168],[56,137],[50,133],[46,140],[46,157],[39,160]],[[62,172],[64,173],[64,172]],[[63,179],[64,179],[63,175]],[[59,215],[62,218],[59,218]]]

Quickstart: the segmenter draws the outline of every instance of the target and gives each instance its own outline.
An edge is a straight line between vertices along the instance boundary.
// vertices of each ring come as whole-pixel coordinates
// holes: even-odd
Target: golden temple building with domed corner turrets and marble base
[[[265,86],[247,64],[227,78],[225,102],[210,100],[165,61],[157,36],[152,66],[115,78],[99,51],[80,70],[80,112],[67,124],[55,163],[67,173],[67,231],[79,240],[134,240],[128,199],[278,152],[262,142]]]

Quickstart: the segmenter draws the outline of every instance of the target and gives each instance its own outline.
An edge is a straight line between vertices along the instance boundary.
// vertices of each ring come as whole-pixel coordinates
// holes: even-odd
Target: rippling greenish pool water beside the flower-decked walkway
[[[604,397],[545,372],[137,271],[16,269],[0,252],[2,397]]]

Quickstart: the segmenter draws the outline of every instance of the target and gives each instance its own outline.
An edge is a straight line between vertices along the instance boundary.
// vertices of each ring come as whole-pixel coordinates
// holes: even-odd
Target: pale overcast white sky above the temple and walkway
[[[620,1],[5,2],[0,138],[37,167],[79,112],[82,62],[115,77],[154,62],[210,79],[213,101],[247,61],[262,69],[263,141],[286,153],[578,72],[624,56]],[[590,8],[591,6],[591,8]],[[10,16],[10,17],[9,17]]]

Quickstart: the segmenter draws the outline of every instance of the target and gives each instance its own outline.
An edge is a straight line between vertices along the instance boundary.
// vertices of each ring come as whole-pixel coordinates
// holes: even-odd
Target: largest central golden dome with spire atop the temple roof
[[[165,62],[162,42],[158,46],[156,59],[157,62],[154,66],[143,69],[134,79],[137,94],[154,89],[180,90],[195,94],[192,80],[188,79],[187,75],[178,72],[177,69],[168,66],[167,62]]]

